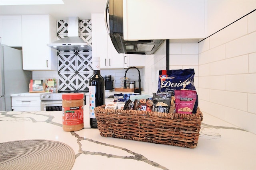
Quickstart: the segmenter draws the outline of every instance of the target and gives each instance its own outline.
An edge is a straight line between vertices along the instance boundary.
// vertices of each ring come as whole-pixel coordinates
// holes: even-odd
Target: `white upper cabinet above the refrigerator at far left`
[[[21,47],[21,16],[0,16],[0,37],[2,44]]]

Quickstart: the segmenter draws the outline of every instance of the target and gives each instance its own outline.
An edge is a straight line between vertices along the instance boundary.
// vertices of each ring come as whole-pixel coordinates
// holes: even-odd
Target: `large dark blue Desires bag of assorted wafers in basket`
[[[195,90],[194,86],[194,68],[179,70],[159,70],[158,92],[172,92],[174,90]],[[176,97],[172,98],[172,102],[176,101]],[[198,97],[196,94],[196,102],[192,113],[196,113],[198,106]],[[178,110],[176,110],[177,112]]]

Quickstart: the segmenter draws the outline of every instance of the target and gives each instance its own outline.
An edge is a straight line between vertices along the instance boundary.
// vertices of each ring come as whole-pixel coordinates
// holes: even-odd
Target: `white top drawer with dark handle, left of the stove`
[[[12,106],[39,106],[41,100],[39,97],[12,97]]]

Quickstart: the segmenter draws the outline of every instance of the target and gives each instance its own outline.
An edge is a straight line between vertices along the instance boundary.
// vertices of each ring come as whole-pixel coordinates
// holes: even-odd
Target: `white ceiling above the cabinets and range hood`
[[[63,0],[64,4],[0,6],[0,15],[50,14],[56,20],[78,16],[91,19],[92,13],[104,13],[106,0]]]

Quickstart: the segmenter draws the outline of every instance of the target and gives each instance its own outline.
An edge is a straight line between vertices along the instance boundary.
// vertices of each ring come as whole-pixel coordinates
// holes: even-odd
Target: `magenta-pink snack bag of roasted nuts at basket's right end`
[[[196,90],[174,90],[176,113],[192,114]]]

